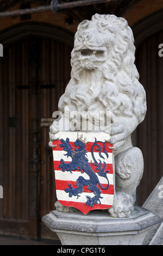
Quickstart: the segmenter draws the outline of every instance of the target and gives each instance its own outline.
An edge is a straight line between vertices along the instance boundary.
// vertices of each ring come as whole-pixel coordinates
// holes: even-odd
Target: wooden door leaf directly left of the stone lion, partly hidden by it
[[[52,148],[48,146],[49,125],[52,114],[58,110],[58,101],[65,92],[70,80],[71,49],[59,42],[42,40],[40,66],[40,136],[41,136],[41,190],[40,190],[40,216],[54,210],[55,196],[54,166]],[[41,236],[48,238],[54,236],[44,223],[41,223]]]

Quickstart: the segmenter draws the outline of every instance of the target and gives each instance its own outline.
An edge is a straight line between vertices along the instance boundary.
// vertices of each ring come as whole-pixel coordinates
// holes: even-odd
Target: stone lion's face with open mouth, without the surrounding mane
[[[107,27],[104,32],[103,27]],[[103,31],[103,33],[102,33]],[[85,70],[95,70],[107,62],[109,49],[116,41],[116,28],[97,21],[84,21],[78,28],[74,41],[74,52],[79,65]]]

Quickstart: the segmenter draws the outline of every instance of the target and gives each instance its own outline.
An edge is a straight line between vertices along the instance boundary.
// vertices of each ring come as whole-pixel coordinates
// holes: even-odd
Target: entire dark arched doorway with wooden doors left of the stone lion
[[[0,233],[54,237],[41,222],[57,200],[48,118],[70,80],[73,35],[27,23],[5,31],[1,40]]]

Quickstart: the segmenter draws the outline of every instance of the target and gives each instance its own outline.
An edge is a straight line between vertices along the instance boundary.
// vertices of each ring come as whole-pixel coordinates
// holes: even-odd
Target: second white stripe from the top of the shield
[[[54,161],[60,161],[61,159],[63,159],[64,161],[72,161],[70,156],[64,156],[64,154],[66,154],[66,151],[64,150],[53,150],[53,160]],[[78,154],[78,153],[77,153]],[[89,160],[89,162],[93,162],[92,159],[92,155],[91,152],[87,152],[86,153],[87,159]],[[99,153],[98,152],[94,152],[94,156],[95,159],[101,159],[101,161],[105,161],[106,163],[112,163],[112,153],[108,153],[108,159],[106,158],[105,154],[102,153],[102,156],[104,156],[104,159],[102,159],[101,157],[99,157]]]

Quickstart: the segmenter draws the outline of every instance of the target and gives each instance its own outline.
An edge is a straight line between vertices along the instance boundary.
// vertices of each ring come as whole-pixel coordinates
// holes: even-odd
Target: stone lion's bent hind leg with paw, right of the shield
[[[143,174],[143,157],[133,147],[115,157],[115,200],[109,212],[112,217],[129,217],[134,210],[136,188]]]

